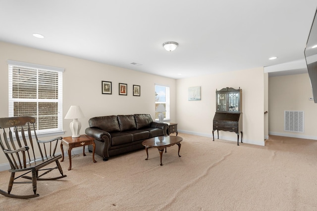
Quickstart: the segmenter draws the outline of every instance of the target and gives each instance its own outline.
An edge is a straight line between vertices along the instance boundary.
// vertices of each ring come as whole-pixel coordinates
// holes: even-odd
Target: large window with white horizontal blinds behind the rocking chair
[[[36,118],[36,132],[62,131],[64,69],[8,60],[9,117]]]

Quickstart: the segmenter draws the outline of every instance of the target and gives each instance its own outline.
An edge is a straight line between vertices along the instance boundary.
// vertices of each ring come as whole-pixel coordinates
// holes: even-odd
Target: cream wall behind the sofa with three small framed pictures
[[[88,120],[95,116],[118,114],[151,114],[155,117],[155,84],[170,86],[170,118],[176,121],[176,80],[118,68],[34,48],[0,42],[0,117],[8,116],[7,60],[65,68],[63,73],[63,117],[71,105],[79,105],[85,115],[81,133]],[[102,81],[112,82],[112,94],[102,94]],[[118,83],[128,84],[128,95],[118,95]],[[141,86],[141,96],[133,96],[132,86]],[[70,136],[69,123],[63,120],[65,134]],[[47,139],[53,137],[46,137]],[[58,149],[59,150],[59,149]],[[0,164],[7,163],[0,153]]]

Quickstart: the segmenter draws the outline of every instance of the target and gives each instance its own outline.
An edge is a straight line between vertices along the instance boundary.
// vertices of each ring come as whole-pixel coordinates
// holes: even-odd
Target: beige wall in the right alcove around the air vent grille
[[[268,78],[269,134],[317,139],[317,104],[307,74]],[[304,111],[304,132],[284,131],[284,111]]]

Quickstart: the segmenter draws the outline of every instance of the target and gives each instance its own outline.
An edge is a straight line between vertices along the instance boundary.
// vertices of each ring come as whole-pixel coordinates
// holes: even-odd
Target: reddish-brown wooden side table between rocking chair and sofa
[[[63,145],[68,147],[68,158],[69,158],[68,170],[71,169],[71,150],[72,150],[72,148],[75,148],[75,147],[81,147],[82,146],[83,147],[83,155],[86,156],[86,154],[85,154],[85,146],[86,145],[93,145],[93,162],[94,163],[97,162],[97,161],[95,161],[96,145],[95,145],[95,141],[94,141],[93,137],[90,137],[88,135],[80,135],[77,138],[72,138],[71,136],[63,137],[63,139],[61,140],[61,143],[60,143],[60,149],[61,149],[61,155],[62,155],[62,158],[61,158],[60,162],[64,161]]]

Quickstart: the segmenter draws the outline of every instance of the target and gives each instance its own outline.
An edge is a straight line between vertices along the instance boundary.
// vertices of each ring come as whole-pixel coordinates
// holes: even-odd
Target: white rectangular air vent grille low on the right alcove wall
[[[284,130],[304,132],[304,111],[285,111]]]

